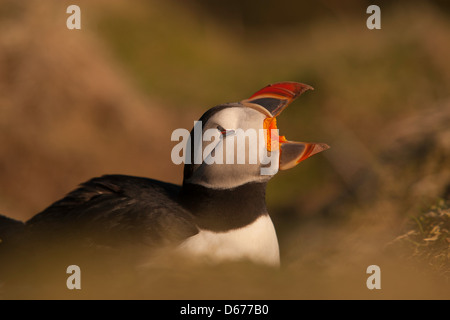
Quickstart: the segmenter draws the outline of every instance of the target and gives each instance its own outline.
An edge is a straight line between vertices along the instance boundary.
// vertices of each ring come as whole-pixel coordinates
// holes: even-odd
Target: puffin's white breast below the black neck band
[[[227,232],[201,230],[179,246],[180,252],[212,262],[250,260],[279,266],[277,235],[269,215]]]

